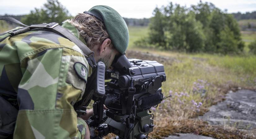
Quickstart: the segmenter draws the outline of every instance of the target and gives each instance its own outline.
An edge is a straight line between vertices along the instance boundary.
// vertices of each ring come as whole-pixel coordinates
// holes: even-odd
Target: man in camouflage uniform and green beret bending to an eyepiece
[[[108,6],[94,6],[62,26],[87,44],[95,60],[106,67],[128,46],[128,28]],[[1,131],[14,126],[15,139],[90,138],[84,120],[92,112],[77,118],[73,107],[87,93],[92,73],[81,49],[53,32],[8,35],[0,38],[0,138],[4,137]],[[6,102],[11,105],[1,105]],[[9,118],[1,119],[4,116]]]

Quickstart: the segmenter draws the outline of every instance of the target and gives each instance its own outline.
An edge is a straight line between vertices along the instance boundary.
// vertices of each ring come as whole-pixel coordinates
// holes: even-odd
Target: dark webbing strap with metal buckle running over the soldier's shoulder
[[[45,31],[50,31],[50,32],[54,32],[57,33],[61,36],[64,36],[65,38],[69,39],[70,41],[72,41],[74,44],[76,44],[83,52],[83,54],[85,55],[88,64],[92,67],[95,68],[96,67],[96,61],[94,59],[94,52],[91,51],[83,42],[81,42],[77,37],[75,37],[69,30],[65,29],[64,27],[61,27],[58,23],[49,23],[49,24],[39,24],[39,25],[31,25],[31,26],[27,26],[23,23],[21,23],[20,21],[16,20],[15,18],[11,17],[11,16],[1,16],[0,20],[5,20],[5,21],[10,21],[13,23],[17,23],[26,27],[11,31],[11,32],[6,32],[6,33],[10,33],[11,36],[14,35],[18,35],[24,32],[28,32],[31,30],[45,30]],[[3,35],[3,34],[1,34]]]

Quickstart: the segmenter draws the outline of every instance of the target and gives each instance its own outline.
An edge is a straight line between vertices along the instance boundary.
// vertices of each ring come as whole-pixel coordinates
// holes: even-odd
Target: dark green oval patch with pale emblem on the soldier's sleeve
[[[85,82],[87,82],[88,69],[86,68],[86,66],[83,65],[83,63],[75,62],[74,69],[75,69],[76,74],[80,78],[82,78]]]

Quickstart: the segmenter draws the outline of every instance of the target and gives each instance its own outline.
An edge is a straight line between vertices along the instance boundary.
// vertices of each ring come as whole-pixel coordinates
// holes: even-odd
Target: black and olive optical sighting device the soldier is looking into
[[[128,60],[125,55],[112,66],[105,73],[110,80],[105,82],[105,95],[92,98],[91,138],[114,133],[115,138],[146,139],[155,126],[150,108],[167,98],[160,88],[166,80],[164,66],[156,61]],[[105,113],[103,104],[108,108]]]

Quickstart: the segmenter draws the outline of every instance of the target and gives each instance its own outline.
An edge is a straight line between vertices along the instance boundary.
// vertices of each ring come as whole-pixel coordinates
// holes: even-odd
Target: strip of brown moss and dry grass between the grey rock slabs
[[[159,114],[158,114],[159,115]],[[155,128],[149,138],[162,139],[177,133],[194,133],[217,139],[255,139],[253,133],[246,133],[228,126],[213,126],[197,119],[181,117],[159,116],[155,119]]]

